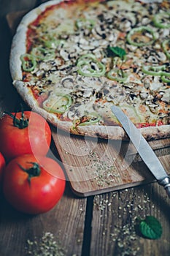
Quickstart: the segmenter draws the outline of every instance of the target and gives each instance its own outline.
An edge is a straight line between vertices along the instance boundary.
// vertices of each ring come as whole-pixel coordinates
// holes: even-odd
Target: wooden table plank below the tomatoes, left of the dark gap
[[[47,232],[63,248],[64,256],[81,255],[86,200],[70,195],[72,192],[67,187],[55,208],[36,216],[15,211],[1,197],[0,255],[28,255],[27,241],[39,242]]]

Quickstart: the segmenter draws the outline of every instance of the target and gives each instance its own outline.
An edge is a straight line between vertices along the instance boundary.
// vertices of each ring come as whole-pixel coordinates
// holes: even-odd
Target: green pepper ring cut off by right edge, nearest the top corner
[[[153,18],[154,25],[159,29],[169,29],[170,23],[167,23],[167,20],[170,18],[170,12],[159,12]],[[163,23],[163,20],[166,21]]]

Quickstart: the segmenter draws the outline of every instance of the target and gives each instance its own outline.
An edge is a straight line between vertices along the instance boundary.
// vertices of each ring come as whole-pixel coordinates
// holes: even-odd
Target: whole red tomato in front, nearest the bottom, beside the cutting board
[[[12,159],[4,170],[4,197],[26,214],[42,214],[53,208],[65,184],[61,166],[49,157],[36,159],[26,154]]]

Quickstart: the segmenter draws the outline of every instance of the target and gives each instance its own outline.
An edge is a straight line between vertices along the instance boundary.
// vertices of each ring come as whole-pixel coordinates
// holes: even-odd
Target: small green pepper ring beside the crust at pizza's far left
[[[21,55],[20,60],[24,71],[31,72],[36,68],[36,59],[31,54],[26,53]]]

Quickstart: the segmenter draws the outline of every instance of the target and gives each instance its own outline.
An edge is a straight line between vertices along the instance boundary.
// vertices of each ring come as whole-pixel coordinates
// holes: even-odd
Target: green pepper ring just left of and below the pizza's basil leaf
[[[93,67],[93,64],[97,66]],[[94,77],[100,77],[101,75],[104,75],[106,72],[106,68],[104,64],[102,64],[100,61],[96,59],[96,56],[93,54],[87,54],[85,56],[80,57],[77,61],[77,72],[80,75],[85,76],[94,76]]]

